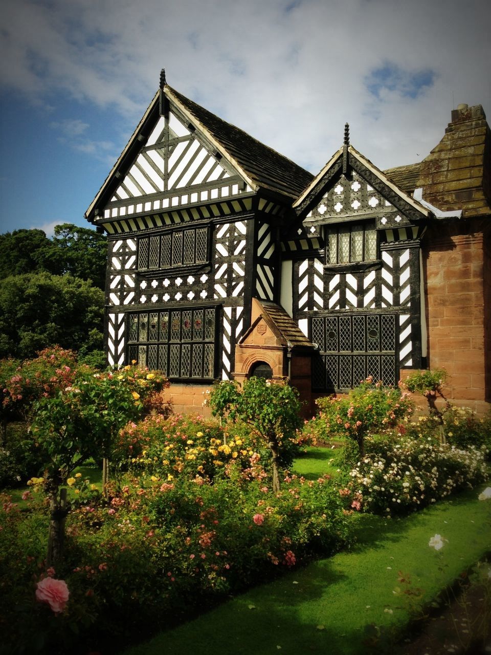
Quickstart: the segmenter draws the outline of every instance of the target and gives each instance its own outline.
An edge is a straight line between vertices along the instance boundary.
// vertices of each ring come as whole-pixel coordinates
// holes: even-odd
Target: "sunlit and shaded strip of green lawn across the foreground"
[[[375,625],[387,645],[407,626],[409,597],[393,593],[403,587],[398,571],[422,589],[422,607],[490,551],[491,501],[477,500],[482,488],[405,519],[360,515],[351,552],[291,571],[124,655],[384,652],[382,641],[371,650],[363,639]],[[428,546],[436,533],[448,540],[438,553]]]

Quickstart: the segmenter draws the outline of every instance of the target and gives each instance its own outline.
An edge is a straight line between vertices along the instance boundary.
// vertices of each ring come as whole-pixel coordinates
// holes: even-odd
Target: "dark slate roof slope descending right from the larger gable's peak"
[[[258,187],[297,198],[314,177],[291,159],[280,155],[235,125],[223,121],[172,87],[166,85],[164,91],[170,91],[213,139],[232,155]]]

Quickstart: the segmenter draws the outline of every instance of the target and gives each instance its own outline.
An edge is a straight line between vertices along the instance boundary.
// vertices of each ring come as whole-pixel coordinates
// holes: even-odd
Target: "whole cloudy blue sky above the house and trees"
[[[84,212],[168,84],[317,174],[350,143],[420,161],[491,122],[489,0],[3,0],[0,233]]]

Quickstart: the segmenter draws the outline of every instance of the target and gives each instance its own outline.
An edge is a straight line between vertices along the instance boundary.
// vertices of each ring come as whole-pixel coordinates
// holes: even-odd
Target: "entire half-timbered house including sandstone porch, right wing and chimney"
[[[175,407],[188,409],[215,379],[289,377],[309,404],[368,375],[396,384],[428,365],[459,375],[468,351],[474,372],[453,395],[472,388],[460,396],[482,409],[490,136],[481,107],[459,111],[440,149],[389,172],[350,145],[346,126],[314,177],[162,76],[86,212],[109,237],[109,364],[161,369]],[[458,253],[465,269],[452,268]],[[445,301],[461,293],[459,274],[471,282],[460,311],[471,322]]]

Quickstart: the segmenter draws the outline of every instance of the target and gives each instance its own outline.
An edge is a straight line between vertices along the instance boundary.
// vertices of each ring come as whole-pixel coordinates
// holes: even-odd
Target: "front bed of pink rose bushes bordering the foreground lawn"
[[[81,489],[82,478],[73,479],[72,489]],[[66,519],[64,561],[46,570],[48,517],[42,485],[31,488],[28,511],[7,498],[0,506],[0,616],[9,626],[5,639],[26,652],[35,651],[40,631],[42,652],[57,652],[52,645],[62,634],[73,646],[81,640],[73,624],[85,627],[96,650],[104,650],[106,636],[107,652],[114,652],[118,638],[161,629],[207,598],[335,552],[350,538],[352,517],[325,477],[287,475],[273,495],[264,481],[240,477],[210,484],[128,476],[109,502],[97,494],[81,498],[81,491]],[[64,608],[56,614],[46,598],[36,600],[36,589],[52,585],[46,576],[69,589],[66,603],[58,597]],[[62,652],[70,652],[69,643]]]

